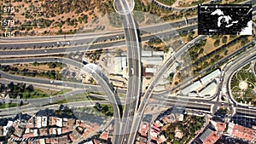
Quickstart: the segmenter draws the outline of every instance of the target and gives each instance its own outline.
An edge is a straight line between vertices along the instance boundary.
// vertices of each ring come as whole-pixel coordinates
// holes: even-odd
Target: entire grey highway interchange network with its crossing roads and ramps
[[[185,20],[177,20],[171,23],[160,23],[154,26],[139,27],[137,21],[134,20],[131,13],[129,13],[129,3],[125,0],[115,1],[119,10],[127,12],[121,14],[123,29],[116,32],[104,33],[87,33],[77,35],[64,36],[50,36],[50,37],[12,37],[2,38],[0,40],[0,64],[28,64],[34,62],[61,62],[68,66],[73,66],[81,73],[90,75],[96,79],[97,84],[82,84],[77,82],[68,82],[65,80],[50,80],[46,78],[31,78],[26,76],[17,76],[9,74],[8,72],[0,71],[0,82],[3,84],[25,83],[33,84],[44,89],[73,89],[61,97],[52,97],[50,101],[58,101],[63,97],[67,98],[72,95],[84,94],[86,92],[103,92],[104,95],[93,95],[91,97],[100,98],[103,101],[76,101],[67,102],[69,107],[93,107],[96,102],[102,104],[111,104],[113,107],[113,143],[134,143],[136,141],[137,131],[140,128],[141,122],[145,115],[147,107],[182,107],[188,110],[195,110],[205,112],[207,114],[214,114],[218,107],[229,107],[231,115],[230,118],[237,114],[243,117],[256,118],[256,109],[236,102],[230,92],[230,79],[233,72],[238,71],[242,66],[256,60],[255,41],[247,43],[245,46],[237,49],[234,53],[227,55],[224,59],[219,60],[219,63],[231,61],[232,65],[225,64],[221,72],[221,79],[218,83],[218,91],[210,98],[193,98],[187,96],[170,96],[176,89],[184,88],[193,82],[195,78],[188,78],[183,83],[178,84],[176,88],[166,89],[163,92],[156,92],[160,78],[165,72],[169,70],[183,55],[185,51],[199,43],[202,39],[206,39],[207,35],[201,35],[193,39],[193,43],[184,43],[180,49],[174,52],[165,63],[160,66],[158,72],[154,73],[154,78],[148,85],[148,88],[143,92],[142,90],[142,62],[141,52],[142,43],[155,37],[170,37],[178,35],[183,32],[195,31],[197,29],[197,17]],[[255,3],[255,0],[247,1],[247,3]],[[178,10],[178,9],[176,9]],[[253,17],[255,17],[256,7],[253,7]],[[255,24],[253,25],[255,28]],[[35,42],[38,40],[38,42]],[[1,43],[3,41],[3,43]],[[18,42],[16,42],[18,41]],[[60,42],[68,42],[64,45],[59,45]],[[127,66],[128,66],[128,86],[127,89],[113,88],[110,84],[108,76],[101,72],[99,66],[83,61],[72,60],[66,57],[60,57],[60,54],[69,54],[75,52],[95,51],[96,49],[116,49],[127,48]],[[37,57],[38,56],[38,57]],[[215,66],[217,64],[214,64]],[[255,64],[254,64],[255,65]],[[203,73],[203,72],[202,72]],[[225,89],[225,90],[224,90]],[[225,91],[225,93],[223,92]],[[224,93],[224,94],[223,94]],[[119,97],[119,94],[124,94],[125,97]],[[220,101],[221,96],[225,95],[226,100]],[[20,100],[10,99],[13,102]],[[58,105],[49,105],[49,98],[27,99],[21,101],[28,101],[28,105],[19,107],[20,111],[26,113],[35,113],[44,108],[56,108]],[[165,101],[161,103],[161,101]],[[122,105],[124,107],[122,107]],[[9,108],[3,109],[0,112],[0,117],[15,117],[17,109]],[[148,112],[147,112],[148,114]],[[149,112],[150,114],[150,112]]]

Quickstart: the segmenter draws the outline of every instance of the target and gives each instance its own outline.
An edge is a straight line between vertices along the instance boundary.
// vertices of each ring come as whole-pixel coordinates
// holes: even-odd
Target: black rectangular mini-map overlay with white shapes
[[[252,12],[251,4],[201,4],[198,6],[198,33],[252,35]]]

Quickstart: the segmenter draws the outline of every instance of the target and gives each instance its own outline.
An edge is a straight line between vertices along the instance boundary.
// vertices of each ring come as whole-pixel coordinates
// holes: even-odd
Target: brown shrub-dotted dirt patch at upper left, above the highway
[[[88,3],[88,5],[84,3]],[[103,3],[107,3],[106,0],[90,2],[64,0],[60,3],[56,3],[54,0],[12,1],[11,5],[15,7],[15,26],[24,27],[15,29],[15,33],[18,37],[23,35],[49,35],[60,31],[77,32],[87,22],[100,17],[102,13],[106,13],[107,9],[104,8],[107,6]],[[75,8],[75,5],[78,9]],[[80,8],[84,9],[81,10]],[[103,9],[104,12],[99,9]],[[43,21],[40,22],[40,20]],[[68,24],[69,22],[72,25]],[[105,24],[97,25],[105,26]]]

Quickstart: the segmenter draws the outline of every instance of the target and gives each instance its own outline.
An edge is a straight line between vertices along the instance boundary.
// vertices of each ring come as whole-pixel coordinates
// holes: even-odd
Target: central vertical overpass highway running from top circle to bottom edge
[[[117,8],[124,12],[121,14],[125,32],[127,46],[127,61],[129,69],[128,87],[125,98],[125,111],[121,120],[119,134],[115,135],[114,143],[126,143],[130,135],[130,125],[137,110],[138,100],[140,99],[142,71],[141,71],[141,42],[139,42],[138,27],[133,19],[127,1],[115,1]],[[117,128],[114,128],[117,129]]]

